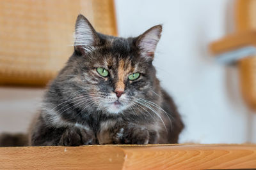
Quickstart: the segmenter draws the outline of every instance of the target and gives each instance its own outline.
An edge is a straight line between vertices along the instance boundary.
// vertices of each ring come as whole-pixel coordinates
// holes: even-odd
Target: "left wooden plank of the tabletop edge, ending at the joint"
[[[122,148],[45,146],[0,148],[0,169],[122,169]]]

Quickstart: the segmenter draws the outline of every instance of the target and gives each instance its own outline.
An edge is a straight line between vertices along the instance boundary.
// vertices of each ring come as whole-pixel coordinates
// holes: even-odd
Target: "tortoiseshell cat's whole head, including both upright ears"
[[[140,107],[136,99],[147,98],[156,78],[152,60],[160,34],[161,25],[157,25],[138,38],[105,36],[80,15],[76,55],[68,61],[72,69],[63,72],[74,75],[68,78],[76,87],[70,90],[70,97],[80,90],[79,95],[87,100],[84,110],[97,108],[104,113],[132,112],[132,108]]]

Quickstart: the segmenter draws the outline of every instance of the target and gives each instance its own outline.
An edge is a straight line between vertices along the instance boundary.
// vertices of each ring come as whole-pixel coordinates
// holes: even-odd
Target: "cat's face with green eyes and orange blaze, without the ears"
[[[112,50],[113,46],[92,52],[90,60],[84,59],[86,71],[79,73],[86,93],[99,110],[120,113],[136,104],[134,99],[145,98],[155,70],[151,62],[136,59],[138,56],[132,53],[122,55]]]

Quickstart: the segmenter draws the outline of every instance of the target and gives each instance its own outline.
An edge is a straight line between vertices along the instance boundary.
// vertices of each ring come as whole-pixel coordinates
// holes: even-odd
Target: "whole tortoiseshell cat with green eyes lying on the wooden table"
[[[29,145],[177,143],[184,125],[152,65],[161,31],[106,36],[79,15],[74,53],[49,85]]]

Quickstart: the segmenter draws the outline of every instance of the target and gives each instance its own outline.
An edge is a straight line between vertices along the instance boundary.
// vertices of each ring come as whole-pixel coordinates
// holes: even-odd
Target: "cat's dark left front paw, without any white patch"
[[[79,127],[68,127],[62,134],[59,143],[59,145],[63,146],[79,146],[93,144],[96,144],[93,131],[82,129]]]

